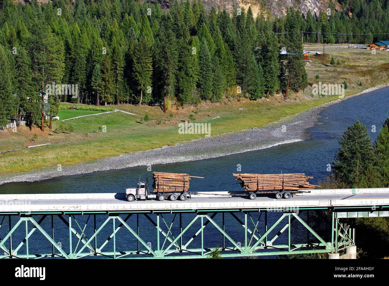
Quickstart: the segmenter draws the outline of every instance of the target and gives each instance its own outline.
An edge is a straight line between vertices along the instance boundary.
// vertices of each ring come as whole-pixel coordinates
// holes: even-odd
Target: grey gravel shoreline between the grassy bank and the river
[[[219,134],[177,143],[173,146],[62,166],[62,171],[57,171],[57,167],[47,167],[28,172],[1,175],[0,185],[10,182],[33,182],[60,176],[79,175],[96,171],[107,171],[110,169],[145,166],[148,164],[168,164],[209,159],[307,140],[309,139],[309,134],[307,134],[306,131],[318,123],[319,113],[323,108],[351,97],[385,87],[389,87],[389,84],[368,88],[363,92],[347,96],[343,99],[316,106],[291,117],[282,118],[282,120],[272,122],[264,127]]]

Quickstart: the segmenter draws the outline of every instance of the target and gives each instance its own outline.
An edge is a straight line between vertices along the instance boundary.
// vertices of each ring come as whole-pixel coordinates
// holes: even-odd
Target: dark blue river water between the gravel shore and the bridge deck
[[[308,129],[307,132],[311,139],[306,141],[200,161],[153,165],[151,171],[188,173],[205,177],[204,179],[193,178],[191,191],[240,190],[237,180],[232,176],[233,173],[240,172],[280,173],[282,170],[284,173],[306,173],[314,176],[312,182],[315,184],[329,175],[328,164],[333,161],[335,152],[339,148],[340,136],[348,125],[359,120],[368,127],[371,139],[377,138],[385,118],[389,116],[388,99],[389,88],[384,88],[352,97],[323,109],[320,113],[319,124]],[[300,124],[301,128],[304,128],[304,122]],[[375,132],[373,132],[374,126]],[[239,166],[241,171],[237,169]],[[147,171],[147,166],[138,166],[37,182],[8,183],[0,185],[0,193],[123,192],[126,187],[135,187],[139,176],[144,179],[146,174],[149,175],[149,182],[151,182],[152,175],[151,172]],[[277,215],[270,214],[270,222],[275,219],[277,219]],[[49,222],[44,222],[42,225],[49,228]],[[237,227],[242,228],[239,225]],[[2,229],[4,230],[4,228]],[[58,229],[58,231],[60,236],[68,233],[66,229]],[[153,231],[153,228],[149,231]],[[216,230],[210,229],[210,231]],[[108,233],[106,234],[108,235]],[[0,235],[3,237],[2,233]],[[151,240],[152,237],[155,237],[147,232],[144,235],[146,241],[147,238]],[[102,237],[105,240],[106,236],[102,235]],[[239,239],[237,238],[237,240]],[[218,243],[216,238],[211,237],[210,240],[211,244],[213,240],[215,244]],[[126,237],[117,238],[117,243],[125,246],[128,244],[128,240]],[[135,242],[131,244],[135,245]],[[43,251],[40,250],[39,244],[37,244],[37,249]]]

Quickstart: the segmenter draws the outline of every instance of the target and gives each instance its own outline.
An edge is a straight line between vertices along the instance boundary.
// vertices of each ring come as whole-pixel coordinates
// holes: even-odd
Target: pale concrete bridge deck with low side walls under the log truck
[[[389,189],[317,190],[294,195],[291,199],[275,199],[273,194],[247,197],[226,197],[224,192],[200,192],[186,201],[133,201],[124,193],[96,194],[3,194],[0,213],[10,212],[88,212],[88,211],[170,211],[170,210],[265,210],[274,208],[371,208],[389,211]],[[202,197],[203,196],[203,197]]]

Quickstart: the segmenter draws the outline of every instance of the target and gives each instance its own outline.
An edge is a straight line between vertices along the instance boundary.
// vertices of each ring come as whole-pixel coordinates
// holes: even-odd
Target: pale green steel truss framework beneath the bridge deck
[[[348,210],[330,210],[332,231],[326,235],[331,241],[324,240],[310,226],[312,210],[322,211],[307,208],[299,213],[256,209],[0,214],[0,248],[4,252],[0,258],[205,258],[216,246],[223,257],[246,257],[338,252],[355,244],[354,229],[344,215]],[[272,219],[270,212],[276,214],[271,215]],[[386,216],[387,212],[377,211],[375,216],[378,215]],[[210,228],[213,230],[207,231]],[[291,235],[292,229],[294,233],[306,232],[299,236],[306,237],[306,241],[293,242],[296,235]],[[57,238],[59,230],[61,242]],[[35,253],[32,242],[50,251]]]

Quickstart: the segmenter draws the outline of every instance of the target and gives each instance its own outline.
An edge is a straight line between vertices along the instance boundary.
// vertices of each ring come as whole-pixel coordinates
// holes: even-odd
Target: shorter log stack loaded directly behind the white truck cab
[[[181,173],[152,172],[154,192],[187,192],[190,178],[202,178]]]

